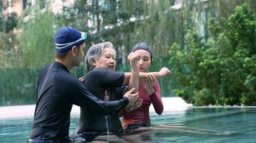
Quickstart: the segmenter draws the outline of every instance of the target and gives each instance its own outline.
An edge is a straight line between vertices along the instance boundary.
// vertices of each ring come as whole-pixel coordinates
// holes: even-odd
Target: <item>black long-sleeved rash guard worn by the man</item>
[[[68,137],[72,104],[98,114],[111,114],[127,106],[122,98],[104,102],[97,99],[68,69],[54,62],[42,69],[38,79],[37,105],[30,139],[62,139]]]

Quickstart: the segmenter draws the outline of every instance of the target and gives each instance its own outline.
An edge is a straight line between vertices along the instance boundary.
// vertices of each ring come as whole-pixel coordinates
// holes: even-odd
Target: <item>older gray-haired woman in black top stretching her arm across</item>
[[[93,45],[87,51],[85,64],[88,74],[84,77],[83,84],[88,91],[101,100],[112,101],[120,99],[127,90],[132,89],[132,87],[139,87],[137,55],[132,52],[128,56],[132,68],[131,73],[114,71],[116,67],[115,59],[116,51],[111,42]],[[151,74],[155,75],[155,77],[163,77],[169,73],[168,69],[161,69]],[[150,80],[150,76],[145,73],[140,73],[140,77]],[[142,100],[137,102],[134,107],[126,107],[125,110],[129,112],[140,107],[141,104]],[[75,134],[78,137],[89,140],[101,134],[122,132],[122,124],[116,114],[117,112],[119,111],[109,116],[104,116],[81,108],[80,121]]]

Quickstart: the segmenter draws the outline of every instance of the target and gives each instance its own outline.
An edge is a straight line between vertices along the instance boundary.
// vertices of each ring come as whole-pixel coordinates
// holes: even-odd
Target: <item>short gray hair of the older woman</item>
[[[86,66],[87,71],[91,71],[93,69],[93,60],[98,60],[103,54],[105,48],[114,49],[114,46],[110,41],[106,41],[103,43],[94,44],[88,49],[86,57],[84,59],[84,64]],[[116,52],[116,50],[114,51]]]

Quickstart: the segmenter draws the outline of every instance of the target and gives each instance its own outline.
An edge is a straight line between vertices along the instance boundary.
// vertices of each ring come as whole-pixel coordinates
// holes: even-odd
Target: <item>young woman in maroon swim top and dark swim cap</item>
[[[140,72],[146,72],[152,65],[152,51],[145,42],[140,42],[134,46],[132,52],[138,56],[138,66]],[[157,114],[163,113],[163,103],[161,100],[160,87],[154,76],[148,78],[145,83],[140,84],[139,97],[143,99],[142,106],[132,112],[123,112],[122,126],[127,129],[137,127],[149,127],[150,122],[150,104],[153,104]]]

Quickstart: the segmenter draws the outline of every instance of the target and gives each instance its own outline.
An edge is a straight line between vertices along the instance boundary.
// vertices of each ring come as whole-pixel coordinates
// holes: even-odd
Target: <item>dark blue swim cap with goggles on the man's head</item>
[[[80,46],[86,40],[87,35],[70,26],[64,26],[55,35],[55,51],[70,51],[73,46]]]

